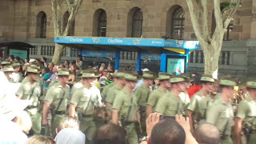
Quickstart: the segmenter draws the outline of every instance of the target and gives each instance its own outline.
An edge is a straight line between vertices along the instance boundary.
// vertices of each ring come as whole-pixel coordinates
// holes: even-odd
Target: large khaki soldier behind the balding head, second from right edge
[[[234,126],[234,111],[231,100],[236,93],[234,86],[237,84],[235,78],[221,78],[219,81],[221,94],[216,96],[206,112],[206,122],[218,128],[222,144],[234,143],[230,138],[231,128]]]

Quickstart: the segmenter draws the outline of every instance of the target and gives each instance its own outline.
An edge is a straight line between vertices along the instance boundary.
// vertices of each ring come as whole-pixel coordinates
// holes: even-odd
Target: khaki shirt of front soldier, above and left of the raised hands
[[[127,120],[130,115],[130,109],[132,106],[137,106],[136,97],[134,93],[130,93],[129,90],[123,88],[117,96],[114,98],[113,109],[119,110],[118,119]]]

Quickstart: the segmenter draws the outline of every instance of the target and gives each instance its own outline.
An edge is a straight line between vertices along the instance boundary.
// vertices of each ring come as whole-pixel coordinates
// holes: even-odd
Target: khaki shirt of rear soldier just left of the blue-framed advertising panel
[[[146,107],[147,100],[150,97],[150,87],[146,87],[144,84],[142,84],[142,86],[139,86],[135,90],[135,96],[138,106]]]

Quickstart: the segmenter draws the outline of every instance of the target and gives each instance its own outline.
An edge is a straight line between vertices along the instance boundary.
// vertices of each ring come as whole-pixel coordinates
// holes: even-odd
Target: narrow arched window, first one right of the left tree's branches
[[[106,11],[102,10],[98,15],[98,37],[106,37]]]

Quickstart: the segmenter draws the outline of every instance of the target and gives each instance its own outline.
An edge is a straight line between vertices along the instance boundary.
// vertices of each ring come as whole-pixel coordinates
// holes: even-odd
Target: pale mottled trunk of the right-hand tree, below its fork
[[[218,60],[221,48],[210,44],[204,47],[203,53],[205,57],[205,74],[210,74],[214,78],[218,78]]]

